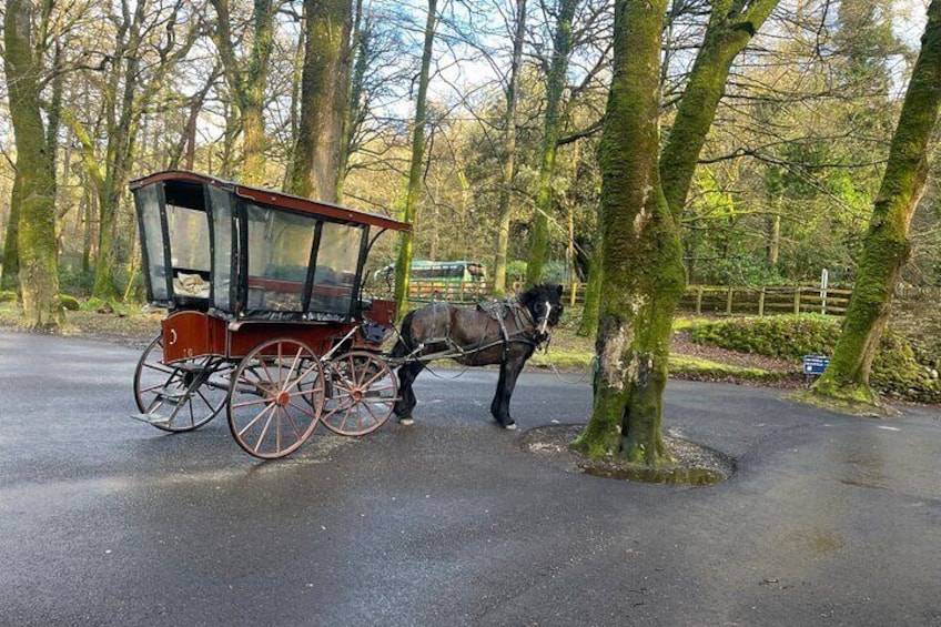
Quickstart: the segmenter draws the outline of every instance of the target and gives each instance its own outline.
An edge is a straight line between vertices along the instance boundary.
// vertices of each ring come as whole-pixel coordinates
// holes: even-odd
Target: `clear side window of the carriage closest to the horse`
[[[325,222],[314,271],[311,311],[348,314],[364,230]]]

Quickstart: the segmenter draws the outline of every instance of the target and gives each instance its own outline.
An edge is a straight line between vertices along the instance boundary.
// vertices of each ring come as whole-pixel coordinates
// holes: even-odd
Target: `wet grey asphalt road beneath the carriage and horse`
[[[670,488],[522,451],[475,371],[423,375],[414,427],[259,463],[224,416],[129,419],[136,357],[0,332],[0,625],[941,626],[937,411],[671,382],[667,429],[738,471]],[[525,431],[589,402],[528,374],[513,407]]]

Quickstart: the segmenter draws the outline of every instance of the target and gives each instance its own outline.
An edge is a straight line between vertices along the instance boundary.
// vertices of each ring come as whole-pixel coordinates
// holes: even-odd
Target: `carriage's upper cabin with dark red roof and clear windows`
[[[353,320],[370,233],[411,229],[194,172],[159,172],[131,190],[148,300],[229,320]]]

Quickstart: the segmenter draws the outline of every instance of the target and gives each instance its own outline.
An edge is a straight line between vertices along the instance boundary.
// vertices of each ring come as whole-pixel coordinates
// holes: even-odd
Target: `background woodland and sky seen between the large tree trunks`
[[[508,192],[508,275],[525,275],[558,4],[526,6],[512,120],[507,87],[518,6],[449,0],[437,7],[415,259],[478,260],[490,270],[499,196]],[[704,0],[669,6],[665,133],[709,8]],[[259,21],[265,11],[267,30]],[[341,140],[344,204],[393,216],[404,208],[426,11],[424,4],[356,1],[344,50],[351,71]],[[599,0],[575,8],[545,212],[547,280],[586,280],[595,249],[611,12]],[[818,281],[822,269],[831,284],[852,283],[923,13],[923,3],[902,0],[778,4],[736,59],[700,155],[681,224],[689,283],[806,283]],[[262,186],[286,184],[300,132],[302,2],[42,0],[33,20],[45,141],[55,161],[63,293],[142,297],[127,191],[133,178],[181,168]],[[0,81],[0,233],[7,235],[8,269],[17,154],[6,89]],[[263,129],[252,140],[262,142],[260,165],[243,158],[251,123],[244,99],[253,90]],[[507,123],[516,131],[508,182]],[[904,282],[941,285],[939,229],[941,205],[930,185],[913,219]],[[113,241],[105,260],[102,237]],[[396,242],[386,240],[371,260],[376,267],[395,261]],[[110,274],[104,287],[102,266]],[[3,287],[16,290],[9,272]]]

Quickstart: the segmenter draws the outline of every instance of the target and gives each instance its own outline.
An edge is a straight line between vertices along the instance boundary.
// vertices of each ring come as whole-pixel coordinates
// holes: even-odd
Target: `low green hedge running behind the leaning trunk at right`
[[[690,328],[690,337],[697,344],[800,362],[805,355],[833,354],[840,321],[819,315],[782,315],[699,322]],[[883,395],[941,402],[938,372],[919,364],[911,346],[888,331],[872,360],[869,383]]]

